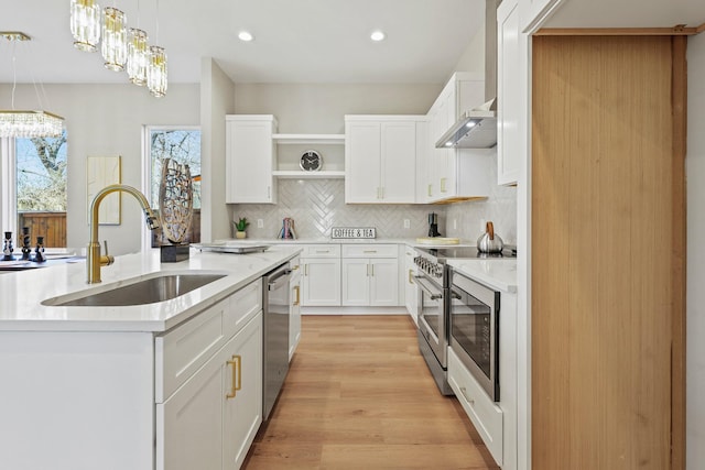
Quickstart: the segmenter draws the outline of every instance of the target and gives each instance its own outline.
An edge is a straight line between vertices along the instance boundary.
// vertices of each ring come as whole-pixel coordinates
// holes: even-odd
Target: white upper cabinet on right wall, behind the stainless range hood
[[[423,203],[484,198],[495,149],[436,149],[436,142],[465,111],[485,102],[485,78],[455,73],[431,107]]]

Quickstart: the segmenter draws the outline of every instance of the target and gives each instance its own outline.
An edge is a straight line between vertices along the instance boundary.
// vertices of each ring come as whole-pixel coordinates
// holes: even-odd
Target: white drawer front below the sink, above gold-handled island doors
[[[154,400],[163,403],[225,342],[226,298],[154,339]]]

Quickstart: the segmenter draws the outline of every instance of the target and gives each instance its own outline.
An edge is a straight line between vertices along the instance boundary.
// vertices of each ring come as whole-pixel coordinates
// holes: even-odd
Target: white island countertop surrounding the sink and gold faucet
[[[100,284],[86,283],[86,263],[66,263],[0,275],[0,331],[165,331],[229,296],[301,252],[276,245],[251,254],[202,253],[161,263],[159,250],[117,256],[101,267]],[[159,271],[223,273],[225,277],[172,300],[124,307],[45,306],[42,300],[79,291],[106,291]],[[127,281],[127,282],[126,282]]]

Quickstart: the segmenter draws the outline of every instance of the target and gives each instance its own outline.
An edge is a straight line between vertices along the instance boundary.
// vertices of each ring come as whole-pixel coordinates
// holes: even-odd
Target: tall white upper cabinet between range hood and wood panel
[[[520,44],[525,44],[517,0],[505,0],[497,9],[497,183],[513,185],[519,179],[525,154],[527,83]]]

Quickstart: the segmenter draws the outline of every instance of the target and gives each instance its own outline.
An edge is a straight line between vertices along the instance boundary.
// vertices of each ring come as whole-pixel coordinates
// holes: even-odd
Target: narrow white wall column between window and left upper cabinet
[[[200,241],[230,237],[225,204],[225,116],[234,112],[235,84],[209,57],[200,61]]]

